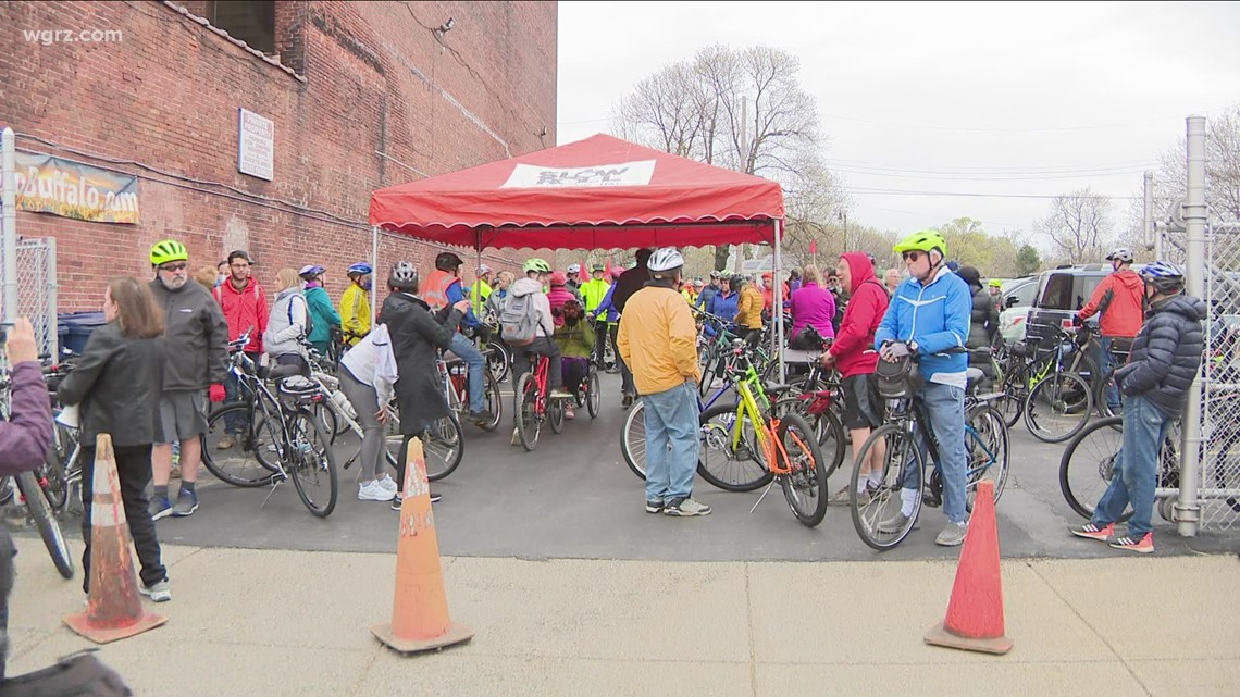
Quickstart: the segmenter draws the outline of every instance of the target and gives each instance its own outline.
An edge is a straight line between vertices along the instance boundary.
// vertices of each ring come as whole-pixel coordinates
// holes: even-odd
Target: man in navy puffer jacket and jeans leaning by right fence
[[[1171,425],[1183,413],[1202,366],[1205,303],[1184,295],[1184,272],[1176,264],[1154,262],[1141,269],[1141,279],[1149,311],[1132,342],[1128,365],[1115,372],[1115,382],[1125,397],[1123,445],[1094,518],[1073,527],[1071,533],[1116,549],[1149,554],[1154,551],[1149,518],[1158,451]],[[1130,504],[1128,530],[1116,535],[1115,523]]]

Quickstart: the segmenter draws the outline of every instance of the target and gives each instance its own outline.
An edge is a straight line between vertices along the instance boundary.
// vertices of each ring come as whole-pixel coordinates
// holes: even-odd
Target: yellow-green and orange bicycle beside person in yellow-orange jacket
[[[827,460],[822,456],[813,429],[795,412],[774,408],[769,397],[786,392],[787,384],[764,386],[744,340],[733,341],[737,360],[729,363],[728,377],[738,396],[734,407],[714,407],[699,417],[702,428],[703,479],[720,489],[753,490],[768,484],[750,512],[766,499],[777,482],[796,520],[807,527],[822,522],[827,513]],[[720,419],[715,422],[714,419]],[[758,476],[748,480],[717,479],[711,466],[711,453],[724,455],[724,464],[753,461]],[[738,477],[739,479],[739,477]]]

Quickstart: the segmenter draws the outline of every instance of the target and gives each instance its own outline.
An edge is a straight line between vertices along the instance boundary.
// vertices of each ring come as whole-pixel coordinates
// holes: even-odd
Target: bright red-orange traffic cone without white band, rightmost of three
[[[1012,640],[1003,636],[1003,579],[999,575],[999,533],[994,520],[994,482],[977,485],[973,516],[956,567],[956,583],[947,618],[930,629],[926,644],[1007,654]]]

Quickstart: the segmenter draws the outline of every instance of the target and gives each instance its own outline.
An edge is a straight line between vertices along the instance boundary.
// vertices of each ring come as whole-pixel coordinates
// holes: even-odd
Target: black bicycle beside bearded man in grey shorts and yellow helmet
[[[322,388],[310,381],[304,386],[289,381],[300,373],[298,366],[257,367],[239,350],[233,352],[229,371],[253,391],[254,398],[224,404],[211,414],[203,437],[202,464],[216,479],[233,486],[270,485],[263,506],[280,484],[291,479],[298,496],[314,516],[330,516],[339,494],[336,455],[322,418],[311,408],[326,398]],[[279,396],[264,380],[277,382]],[[246,432],[237,438],[236,445],[221,450],[216,446],[218,438],[228,437],[226,424],[233,418],[244,419]]]

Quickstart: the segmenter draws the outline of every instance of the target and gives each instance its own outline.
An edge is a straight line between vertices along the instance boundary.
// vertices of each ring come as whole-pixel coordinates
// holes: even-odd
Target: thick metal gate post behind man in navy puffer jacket
[[[1188,117],[1188,190],[1184,205],[1184,260],[1185,291],[1195,298],[1205,298],[1205,117]],[[1209,326],[1207,326],[1209,329]],[[1197,536],[1197,523],[1202,507],[1198,501],[1200,482],[1202,446],[1202,372],[1198,371],[1193,387],[1189,388],[1188,404],[1180,432],[1179,502],[1176,504],[1176,521],[1179,535]]]

